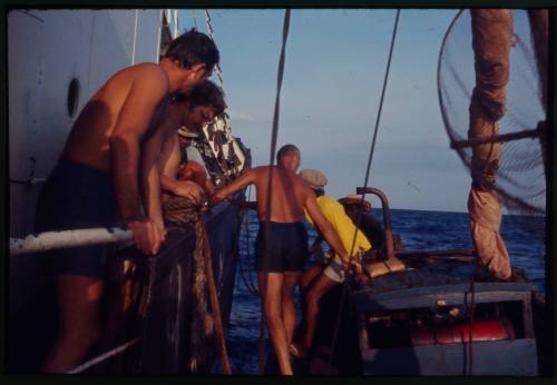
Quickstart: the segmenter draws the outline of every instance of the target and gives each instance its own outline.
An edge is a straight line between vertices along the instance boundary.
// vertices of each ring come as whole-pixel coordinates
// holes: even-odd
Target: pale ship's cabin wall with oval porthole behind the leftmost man
[[[10,237],[32,231],[40,181],[89,97],[118,70],[158,61],[162,20],[155,9],[9,12]],[[33,177],[38,184],[25,182]],[[10,268],[16,307],[40,282],[37,257],[17,258]]]

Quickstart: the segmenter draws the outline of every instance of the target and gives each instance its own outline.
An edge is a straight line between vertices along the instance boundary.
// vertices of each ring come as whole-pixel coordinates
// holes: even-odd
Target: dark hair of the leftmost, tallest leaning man
[[[177,60],[184,68],[205,63],[207,71],[212,71],[221,56],[215,42],[208,36],[192,28],[170,41],[165,58]]]

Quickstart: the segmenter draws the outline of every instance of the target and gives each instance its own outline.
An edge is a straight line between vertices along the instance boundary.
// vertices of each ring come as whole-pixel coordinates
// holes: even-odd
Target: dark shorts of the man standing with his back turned
[[[270,227],[270,250],[265,255],[265,230]],[[255,241],[257,272],[284,273],[302,272],[307,257],[307,233],[301,221],[296,223],[260,223],[260,231]]]

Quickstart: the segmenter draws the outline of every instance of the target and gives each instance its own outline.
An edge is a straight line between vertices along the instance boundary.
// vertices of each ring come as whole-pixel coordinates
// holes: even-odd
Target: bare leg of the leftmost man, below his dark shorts
[[[100,335],[102,279],[59,275],[55,283],[60,327],[42,364],[43,373],[65,373],[81,364]]]

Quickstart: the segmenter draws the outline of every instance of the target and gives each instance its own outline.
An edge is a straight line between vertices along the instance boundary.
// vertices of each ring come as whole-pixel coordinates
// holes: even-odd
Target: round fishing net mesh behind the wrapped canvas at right
[[[530,137],[502,142],[495,189],[509,214],[536,216],[539,221],[539,216],[546,213],[545,137],[539,135],[546,121],[544,82],[536,62],[528,12],[514,10],[512,19],[507,101],[499,120],[499,135],[538,130],[531,131]],[[471,16],[469,10],[462,10],[449,27],[438,67],[441,113],[452,144],[468,139],[469,107],[475,86]],[[472,147],[456,148],[456,151],[470,168]]]

